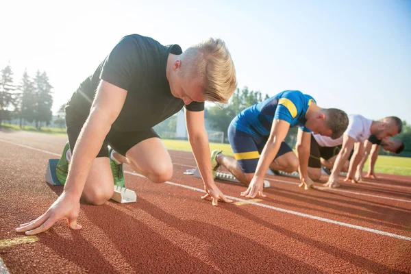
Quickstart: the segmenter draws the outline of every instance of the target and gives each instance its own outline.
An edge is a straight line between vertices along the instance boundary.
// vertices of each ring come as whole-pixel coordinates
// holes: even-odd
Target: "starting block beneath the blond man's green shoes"
[[[57,179],[55,174],[55,167],[58,164],[59,159],[49,159],[47,164],[45,179],[47,184],[52,186],[62,186],[63,184]],[[114,193],[111,197],[113,201],[118,203],[134,203],[137,201],[136,192],[127,188],[122,188],[121,186],[114,186]]]

